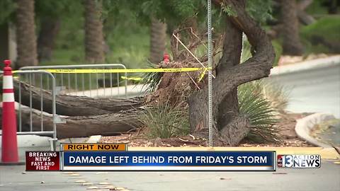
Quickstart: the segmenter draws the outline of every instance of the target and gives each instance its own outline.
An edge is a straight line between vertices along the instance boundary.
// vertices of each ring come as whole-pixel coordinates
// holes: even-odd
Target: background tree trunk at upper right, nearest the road
[[[303,47],[299,37],[297,5],[295,0],[281,0],[281,34],[283,36],[283,54],[302,55]]]

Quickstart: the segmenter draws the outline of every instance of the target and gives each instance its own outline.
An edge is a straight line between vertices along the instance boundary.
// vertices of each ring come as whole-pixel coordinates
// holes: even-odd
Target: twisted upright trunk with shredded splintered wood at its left
[[[246,116],[239,113],[237,86],[261,79],[270,74],[275,52],[266,32],[246,13],[244,1],[219,1],[217,6],[229,6],[234,16],[225,18],[222,58],[212,73],[212,128],[214,146],[235,146],[249,133],[250,124]],[[223,4],[222,4],[223,2]],[[252,57],[239,64],[242,50],[242,32],[246,34],[252,50]],[[181,33],[174,33],[181,37]],[[196,35],[197,36],[197,35]],[[218,40],[216,40],[218,43]],[[186,50],[179,50],[171,41],[174,62],[169,67],[200,67],[195,59],[187,59]],[[187,43],[188,49],[198,47],[195,42]],[[192,51],[193,52],[193,51]],[[186,52],[188,54],[188,52]],[[183,59],[186,58],[186,59]],[[206,57],[200,58],[205,62]],[[162,66],[162,64],[161,64]],[[200,73],[166,73],[163,74],[157,91],[147,96],[147,103],[171,103],[188,107],[191,132],[198,136],[208,137],[208,86],[207,79],[196,81]],[[206,75],[205,75],[206,76]]]

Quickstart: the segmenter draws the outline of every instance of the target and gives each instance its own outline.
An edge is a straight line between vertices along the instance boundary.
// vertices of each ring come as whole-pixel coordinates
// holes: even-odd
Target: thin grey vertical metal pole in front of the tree
[[[211,43],[211,0],[208,0],[208,115],[209,146],[212,146],[212,43]]]

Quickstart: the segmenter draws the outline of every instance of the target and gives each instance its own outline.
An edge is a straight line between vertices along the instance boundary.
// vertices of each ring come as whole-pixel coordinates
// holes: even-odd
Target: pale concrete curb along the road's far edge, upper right
[[[273,69],[271,69],[270,76],[294,73],[294,72],[305,71],[305,70],[310,70],[310,69],[327,68],[327,67],[336,66],[339,64],[340,64],[340,55],[326,57],[326,58],[306,60],[304,62],[299,62],[296,64],[276,66]]]

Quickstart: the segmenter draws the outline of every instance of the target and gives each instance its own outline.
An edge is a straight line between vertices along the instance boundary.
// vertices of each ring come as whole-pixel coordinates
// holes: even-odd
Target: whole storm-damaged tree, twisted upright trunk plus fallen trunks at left
[[[164,2],[164,4],[168,3]],[[194,4],[196,3],[197,1]],[[215,76],[212,81],[214,145],[234,146],[246,137],[250,127],[246,116],[239,114],[237,86],[268,76],[275,53],[265,31],[246,12],[244,1],[215,0],[213,3],[215,7],[229,11],[229,13],[224,11],[225,16],[222,20],[224,25],[222,41],[220,41],[223,44],[222,57],[212,68]],[[184,31],[187,31],[187,35],[181,35]],[[246,35],[251,44],[252,57],[240,64],[242,33]],[[190,28],[175,30],[176,38],[173,37],[171,40],[173,61],[169,64],[161,63],[159,66],[201,67],[201,64],[205,64],[207,57],[193,59],[187,50],[178,48],[178,39],[191,41],[187,45],[189,50],[193,50],[204,42],[205,35],[197,35]],[[219,35],[215,36],[219,37]],[[215,39],[214,45],[219,46],[218,39]],[[220,53],[215,51],[214,55]],[[142,112],[142,105],[164,101],[188,108],[191,131],[193,134],[206,136],[208,132],[208,86],[206,78],[198,81],[200,73],[201,71],[190,74],[186,72],[161,74],[157,90],[140,100],[58,95],[57,113],[69,116],[73,114],[73,117],[64,117],[67,120],[66,124],[57,125],[58,137],[84,137],[91,134],[126,132],[141,126],[136,116]],[[23,87],[28,88],[29,85],[24,84],[21,88]],[[33,93],[33,98],[34,95]],[[28,95],[25,93],[22,95],[23,100],[26,96]],[[39,96],[37,92],[36,97],[39,98]],[[48,98],[50,92],[44,91],[43,96],[47,102],[50,101]],[[27,104],[27,100],[23,103]],[[40,110],[40,104],[35,104],[33,101],[33,108]],[[44,107],[43,110],[50,112],[48,107]],[[49,125],[52,124],[52,118],[45,117],[44,119],[47,120],[47,126],[52,128]],[[38,116],[37,120],[39,121]]]

